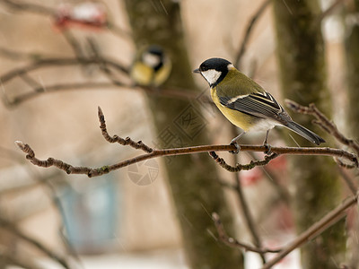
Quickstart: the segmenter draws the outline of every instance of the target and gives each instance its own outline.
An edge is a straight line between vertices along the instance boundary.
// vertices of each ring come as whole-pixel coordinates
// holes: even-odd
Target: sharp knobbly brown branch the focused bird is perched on
[[[145,161],[148,159],[153,159],[157,157],[163,157],[163,156],[177,156],[177,155],[183,155],[183,154],[194,154],[194,153],[200,153],[200,152],[211,152],[212,155],[214,153],[212,152],[229,152],[236,150],[234,145],[200,145],[200,146],[192,146],[192,147],[183,147],[183,148],[173,148],[173,149],[163,149],[163,150],[156,150],[153,149],[147,145],[144,145],[141,141],[134,142],[130,138],[120,138],[117,135],[114,135],[111,137],[106,129],[105,124],[105,118],[103,116],[103,113],[101,111],[101,108],[99,108],[98,111],[99,114],[99,120],[101,123],[101,132],[102,135],[105,137],[107,141],[110,143],[120,143],[123,145],[129,145],[135,149],[141,149],[144,150],[145,154],[138,155],[135,158],[128,159],[126,161],[120,161],[115,164],[102,166],[101,168],[92,169],[88,167],[74,167],[71,164],[68,164],[64,161],[56,160],[54,158],[48,158],[48,160],[41,161],[38,158],[35,157],[35,152],[31,149],[31,146],[22,143],[21,141],[16,141],[16,145],[22,150],[22,152],[25,152],[26,159],[31,161],[32,164],[37,165],[39,167],[48,168],[51,166],[55,166],[58,169],[62,169],[66,171],[67,174],[84,174],[88,177],[97,177],[104,174],[109,173],[110,171],[121,169],[124,167],[127,167],[128,165],[134,164],[139,161]],[[264,145],[241,145],[241,152],[267,152],[267,147]],[[223,163],[223,167],[230,170],[230,171],[239,171],[241,169],[252,169],[255,166],[258,165],[264,165],[266,162],[269,162],[276,158],[276,156],[280,154],[289,154],[289,155],[322,155],[322,156],[332,156],[337,158],[344,158],[347,161],[353,162],[354,166],[358,166],[358,160],[357,156],[351,152],[346,152],[344,150],[340,149],[333,149],[333,148],[322,148],[322,147],[272,147],[271,148],[271,154],[267,155],[265,157],[265,160],[263,161],[251,161],[250,164],[247,165],[237,165],[236,167],[231,167],[228,164],[226,164],[224,161],[220,161]],[[215,154],[216,155],[216,154]]]

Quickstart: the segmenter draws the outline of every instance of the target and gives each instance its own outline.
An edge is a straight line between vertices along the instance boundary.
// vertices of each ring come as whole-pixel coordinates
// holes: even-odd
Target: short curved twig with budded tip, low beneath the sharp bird
[[[244,249],[245,251],[252,251],[258,254],[266,254],[266,253],[278,253],[281,249],[271,249],[266,247],[253,247],[249,244],[242,243],[236,239],[230,238],[223,228],[223,223],[217,213],[212,213],[212,219],[215,223],[215,228],[218,232],[219,239],[229,247],[238,247],[240,249]]]

